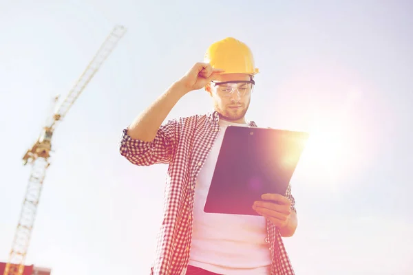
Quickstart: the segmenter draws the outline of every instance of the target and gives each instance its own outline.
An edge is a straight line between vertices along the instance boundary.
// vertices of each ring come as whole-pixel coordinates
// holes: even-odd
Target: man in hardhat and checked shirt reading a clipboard
[[[241,41],[213,43],[204,63],[193,65],[123,130],[120,153],[132,164],[169,164],[151,274],[294,274],[282,242],[297,228],[290,186],[285,197],[263,194],[251,206],[258,216],[203,211],[226,126],[257,126],[245,118],[257,72]],[[182,96],[201,88],[213,112],[162,124]]]

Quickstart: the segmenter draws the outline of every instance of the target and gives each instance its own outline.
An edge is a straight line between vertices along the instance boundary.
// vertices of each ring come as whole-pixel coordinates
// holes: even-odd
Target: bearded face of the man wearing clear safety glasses
[[[222,119],[236,123],[245,122],[244,116],[250,104],[253,84],[226,82],[250,80],[251,76],[247,74],[223,74],[218,75],[207,86],[207,91],[213,99],[215,111],[220,113]]]

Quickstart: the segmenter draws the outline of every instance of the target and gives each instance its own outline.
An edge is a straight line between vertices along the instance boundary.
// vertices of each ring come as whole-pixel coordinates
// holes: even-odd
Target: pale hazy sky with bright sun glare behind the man
[[[227,36],[260,74],[247,119],[309,131],[291,184],[297,274],[413,274],[410,1],[0,0],[0,261],[36,141],[114,25],[127,33],[59,124],[26,264],[53,275],[149,274],[166,165],[118,152],[122,130]],[[169,118],[212,108],[192,91]]]

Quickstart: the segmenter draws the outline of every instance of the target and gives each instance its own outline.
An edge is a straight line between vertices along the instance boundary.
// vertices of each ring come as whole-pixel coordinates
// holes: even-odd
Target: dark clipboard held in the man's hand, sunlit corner
[[[286,194],[308,137],[300,131],[226,127],[204,212],[258,216],[254,201],[265,193]]]

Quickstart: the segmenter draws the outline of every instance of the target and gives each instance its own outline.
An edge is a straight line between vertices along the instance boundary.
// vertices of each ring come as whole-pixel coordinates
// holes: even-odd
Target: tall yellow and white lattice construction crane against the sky
[[[31,164],[32,170],[21,208],[19,223],[14,234],[12,250],[10,251],[9,260],[3,275],[23,274],[25,257],[32,236],[34,220],[36,219],[36,210],[43,187],[43,180],[46,170],[50,166],[49,157],[50,151],[52,151],[52,136],[56,125],[65,118],[67,111],[69,111],[78,96],[80,96],[107,56],[114,50],[114,47],[125,32],[126,28],[122,25],[116,25],[114,27],[69,94],[67,94],[60,106],[56,108],[56,111],[47,120],[39,139],[36,140],[32,148],[23,156],[23,165]],[[58,99],[59,97],[56,97],[55,102],[57,102]]]

